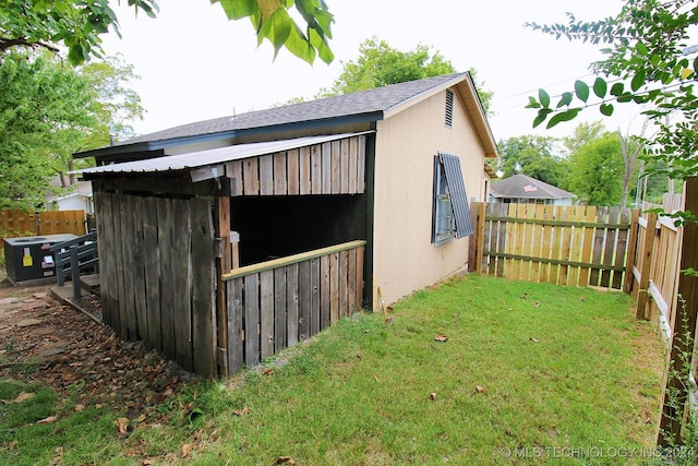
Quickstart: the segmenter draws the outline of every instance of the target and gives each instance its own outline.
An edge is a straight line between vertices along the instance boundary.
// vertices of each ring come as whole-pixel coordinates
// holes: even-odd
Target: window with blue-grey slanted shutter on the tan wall
[[[434,157],[432,242],[438,246],[473,232],[460,160],[455,155],[438,153]]]

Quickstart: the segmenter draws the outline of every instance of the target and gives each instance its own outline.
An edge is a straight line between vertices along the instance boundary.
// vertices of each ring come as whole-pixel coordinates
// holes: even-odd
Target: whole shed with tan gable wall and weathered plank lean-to
[[[468,73],[77,154],[105,322],[201,374],[254,366],[464,268],[495,155]]]

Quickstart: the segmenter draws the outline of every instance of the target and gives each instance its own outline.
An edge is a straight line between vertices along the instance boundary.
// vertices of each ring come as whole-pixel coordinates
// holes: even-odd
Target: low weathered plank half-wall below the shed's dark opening
[[[258,365],[357,312],[363,300],[363,250],[224,277],[228,373]]]

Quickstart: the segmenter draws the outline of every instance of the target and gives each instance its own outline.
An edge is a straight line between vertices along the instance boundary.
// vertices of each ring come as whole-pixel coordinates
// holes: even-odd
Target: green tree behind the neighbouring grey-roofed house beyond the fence
[[[549,184],[561,186],[566,160],[555,155],[558,140],[550,136],[522,135],[500,141],[497,169],[504,178],[528,175]]]

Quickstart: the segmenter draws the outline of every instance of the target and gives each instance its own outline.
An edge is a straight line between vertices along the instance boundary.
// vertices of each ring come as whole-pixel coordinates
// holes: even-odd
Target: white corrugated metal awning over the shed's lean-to
[[[329,134],[322,136],[296,138],[282,141],[257,142],[249,144],[229,145],[225,147],[195,151],[185,154],[167,155],[145,160],[124,162],[122,164],[104,165],[101,167],[85,168],[74,171],[83,175],[97,174],[149,174],[156,171],[185,170],[208,165],[224,164],[242,158],[257,157],[277,152],[291,151],[340,139],[366,134],[372,131],[359,133]]]

